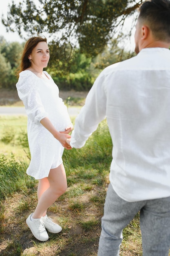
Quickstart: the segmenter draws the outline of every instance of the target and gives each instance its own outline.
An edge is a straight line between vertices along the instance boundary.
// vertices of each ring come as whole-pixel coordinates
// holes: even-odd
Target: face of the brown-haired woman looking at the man
[[[48,65],[50,51],[46,42],[40,42],[29,55],[32,67],[44,68]]]

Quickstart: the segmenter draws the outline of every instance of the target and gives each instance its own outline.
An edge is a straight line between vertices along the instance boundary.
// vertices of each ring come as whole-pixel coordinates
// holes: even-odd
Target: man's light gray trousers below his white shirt
[[[119,256],[122,231],[140,211],[143,256],[168,256],[170,197],[127,202],[108,187],[98,256]]]

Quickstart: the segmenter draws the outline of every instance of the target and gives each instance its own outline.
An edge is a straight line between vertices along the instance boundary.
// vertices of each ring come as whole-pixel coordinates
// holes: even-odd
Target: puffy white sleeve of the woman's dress
[[[21,72],[16,84],[19,98],[23,101],[26,114],[35,123],[48,116],[42,105],[38,89],[38,77],[31,72]]]

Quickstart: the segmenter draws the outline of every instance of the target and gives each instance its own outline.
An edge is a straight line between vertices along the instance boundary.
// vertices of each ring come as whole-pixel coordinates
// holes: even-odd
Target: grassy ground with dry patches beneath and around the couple
[[[25,223],[36,207],[38,186],[26,175],[26,117],[0,117],[0,136],[0,255],[97,256],[112,158],[106,121],[83,148],[64,150],[68,189],[48,211],[63,230],[49,234],[46,243],[36,240]],[[141,256],[139,214],[123,235],[120,255]]]

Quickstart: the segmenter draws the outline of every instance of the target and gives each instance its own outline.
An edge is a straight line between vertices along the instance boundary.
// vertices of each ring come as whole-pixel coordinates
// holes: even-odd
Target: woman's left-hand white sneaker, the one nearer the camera
[[[32,214],[33,213],[31,213],[30,216],[26,219],[26,224],[31,229],[31,232],[35,238],[42,242],[47,241],[49,239],[49,235],[44,227],[44,217],[31,220]]]

